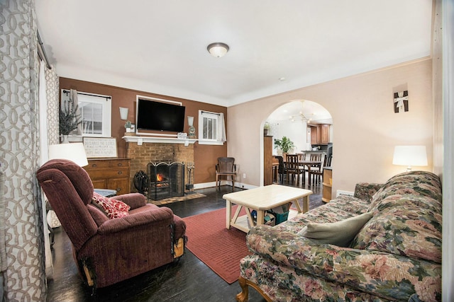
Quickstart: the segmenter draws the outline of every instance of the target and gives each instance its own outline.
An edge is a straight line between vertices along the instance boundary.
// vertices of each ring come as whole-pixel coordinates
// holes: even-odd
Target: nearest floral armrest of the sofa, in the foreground
[[[414,291],[423,301],[441,297],[441,265],[433,262],[319,244],[264,225],[252,228],[246,243],[255,254],[281,265],[384,298],[408,301]]]

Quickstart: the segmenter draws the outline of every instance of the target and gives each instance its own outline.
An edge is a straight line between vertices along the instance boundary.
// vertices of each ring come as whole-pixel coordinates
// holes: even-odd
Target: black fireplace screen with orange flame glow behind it
[[[184,196],[184,163],[148,163],[148,199]]]

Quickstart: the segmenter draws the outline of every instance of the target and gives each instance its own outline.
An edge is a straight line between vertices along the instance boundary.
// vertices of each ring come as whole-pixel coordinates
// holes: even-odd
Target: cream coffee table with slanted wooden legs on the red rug
[[[226,228],[234,226],[247,233],[250,226],[255,224],[250,214],[251,211],[257,211],[256,224],[263,224],[267,210],[289,202],[294,202],[299,213],[305,213],[309,211],[310,194],[312,194],[311,190],[284,185],[267,185],[265,187],[256,187],[255,189],[223,194],[223,199],[226,199]],[[301,209],[299,199],[303,201],[303,209]],[[238,208],[232,217],[231,211],[233,204],[238,204]],[[240,211],[243,208],[246,211],[246,215],[240,216]]]

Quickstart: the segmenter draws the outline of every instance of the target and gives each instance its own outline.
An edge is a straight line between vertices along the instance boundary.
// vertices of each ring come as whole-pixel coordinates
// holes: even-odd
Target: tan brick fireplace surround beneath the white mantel
[[[151,139],[150,139],[151,140]],[[130,182],[131,192],[138,192],[134,186],[134,175],[140,170],[148,173],[148,163],[194,163],[194,144],[185,146],[181,142],[154,142],[142,141],[138,144],[138,137],[126,139],[126,157],[131,158]],[[188,173],[184,173],[184,184],[188,183]]]

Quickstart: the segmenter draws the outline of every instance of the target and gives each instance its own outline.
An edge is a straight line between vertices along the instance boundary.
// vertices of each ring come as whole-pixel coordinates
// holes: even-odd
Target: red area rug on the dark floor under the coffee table
[[[236,207],[232,207],[235,212]],[[189,216],[186,222],[187,248],[219,277],[232,284],[240,277],[240,260],[249,255],[246,234],[226,228],[226,209]]]

